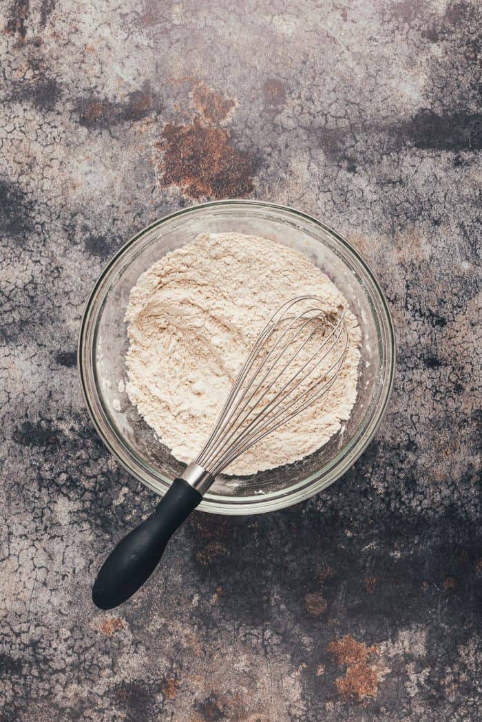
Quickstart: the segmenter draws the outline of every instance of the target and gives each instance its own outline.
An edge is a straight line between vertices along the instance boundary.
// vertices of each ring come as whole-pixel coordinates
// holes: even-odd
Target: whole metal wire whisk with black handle
[[[319,298],[305,295],[286,301],[273,313],[196,461],[101,567],[92,589],[100,609],[113,609],[142,586],[173,532],[199,505],[218,474],[330,391],[347,347],[343,308],[327,311]]]

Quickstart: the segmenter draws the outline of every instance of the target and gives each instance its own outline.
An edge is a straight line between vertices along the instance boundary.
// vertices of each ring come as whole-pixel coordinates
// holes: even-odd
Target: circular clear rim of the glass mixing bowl
[[[121,466],[123,466],[126,471],[129,471],[129,474],[132,474],[135,479],[142,482],[142,484],[150,488],[150,490],[162,496],[162,492],[160,492],[159,488],[155,487],[155,485],[150,482],[150,479],[142,476],[142,473],[140,473],[140,471],[135,469],[132,464],[129,464],[129,459],[131,458],[132,454],[127,453],[128,450],[126,449],[124,443],[119,440],[119,435],[113,430],[112,425],[108,420],[108,415],[106,414],[105,409],[103,409],[106,429],[111,432],[111,436],[114,439],[117,439],[119,441],[121,447],[116,448],[113,440],[111,440],[111,438],[109,438],[109,435],[106,433],[106,429],[104,429],[103,426],[100,424],[98,415],[95,412],[94,406],[92,404],[92,399],[90,399],[90,393],[88,391],[87,384],[87,366],[89,365],[88,360],[90,358],[91,349],[90,347],[86,347],[86,338],[87,331],[89,329],[89,322],[92,323],[93,320],[95,323],[95,317],[93,317],[92,319],[92,307],[95,303],[95,300],[97,300],[98,295],[100,294],[100,290],[102,290],[103,282],[105,281],[111,269],[113,269],[113,266],[115,266],[116,262],[119,261],[122,256],[124,256],[126,251],[128,251],[129,248],[131,248],[132,245],[134,245],[134,243],[136,243],[139,238],[142,238],[147,232],[150,232],[155,228],[159,227],[160,225],[163,225],[164,223],[171,221],[172,219],[179,216],[183,216],[193,212],[202,212],[204,210],[215,209],[221,206],[233,205],[272,209],[277,212],[292,214],[295,217],[304,219],[309,223],[313,223],[314,225],[324,230],[324,232],[330,234],[332,238],[337,241],[337,243],[340,243],[345,248],[345,250],[348,251],[348,253],[352,254],[355,257],[356,261],[361,264],[363,270],[366,272],[372,284],[374,285],[374,290],[378,295],[378,301],[383,312],[382,317],[379,318],[379,325],[382,326],[385,334],[387,334],[386,347],[384,348],[384,352],[387,356],[384,381],[382,383],[380,398],[376,403],[376,409],[374,411],[373,417],[369,421],[366,429],[363,431],[363,434],[360,435],[360,438],[358,438],[358,440],[352,443],[350,451],[348,451],[345,456],[343,456],[343,449],[345,448],[345,445],[342,444],[340,449],[337,451],[335,457],[330,460],[324,467],[322,467],[326,471],[330,471],[333,466],[337,467],[335,474],[333,474],[330,479],[319,478],[318,482],[314,480],[314,477],[319,475],[319,471],[321,471],[319,469],[317,472],[315,472],[315,474],[309,475],[309,477],[306,477],[306,479],[301,482],[297,482],[291,487],[286,487],[285,489],[277,490],[277,492],[271,492],[263,495],[232,497],[223,496],[220,494],[210,495],[210,493],[207,492],[207,494],[202,500],[202,503],[198,506],[199,510],[207,511],[210,513],[220,513],[223,515],[246,515],[267,513],[272,510],[282,509],[300,503],[301,501],[304,501],[309,497],[314,496],[318,492],[326,489],[332,483],[337,481],[337,479],[340,479],[340,477],[342,477],[343,474],[345,474],[346,471],[348,471],[348,469],[350,469],[351,466],[355,464],[363,451],[366,450],[366,447],[369,445],[369,443],[371,443],[371,440],[373,439],[376,430],[382,422],[384,412],[387,409],[387,404],[390,401],[390,396],[392,393],[395,378],[397,355],[395,328],[392,320],[392,314],[390,313],[387,298],[384,295],[384,292],[378,282],[378,279],[376,278],[376,275],[371,270],[370,266],[366,263],[366,261],[364,261],[360,253],[356,251],[356,248],[354,248],[353,245],[348,242],[348,240],[343,238],[343,236],[333,230],[330,226],[326,225],[324,222],[320,221],[314,216],[299,211],[298,209],[292,208],[291,206],[275,204],[269,201],[259,201],[251,199],[223,199],[220,201],[207,201],[205,203],[194,204],[173,211],[145,226],[144,228],[142,228],[142,230],[139,230],[131,238],[129,238],[129,240],[126,240],[126,243],[121,245],[119,250],[116,251],[116,253],[114,253],[113,256],[109,259],[106,266],[103,267],[100,275],[98,276],[98,279],[96,280],[90,294],[87,297],[85,307],[82,313],[82,320],[79,326],[79,336],[77,344],[77,367],[82,396],[84,398],[85,405],[87,406],[87,411],[90,415],[92,424],[94,425],[95,430],[98,432],[100,439],[103,441],[104,445],[106,445],[108,451],[110,451],[116,458],[116,460],[119,461],[119,464],[121,464]],[[99,405],[102,406],[100,399]],[[356,436],[354,438],[356,438]],[[125,451],[126,453],[123,454],[122,451]],[[137,463],[139,463],[138,459],[136,459],[136,461]],[[154,471],[155,477],[158,477],[159,481],[162,480],[163,482],[165,482],[165,484],[170,483],[170,480],[164,477],[163,474],[160,474],[160,472],[158,472],[157,470]],[[168,487],[166,487],[166,490],[167,488]]]

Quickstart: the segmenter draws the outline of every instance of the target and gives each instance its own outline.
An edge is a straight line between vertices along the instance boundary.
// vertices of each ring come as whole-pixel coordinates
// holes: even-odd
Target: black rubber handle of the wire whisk
[[[92,588],[100,609],[129,599],[150,577],[174,531],[201,502],[202,495],[184,479],[175,479],[157,508],[124,536],[103,563]]]

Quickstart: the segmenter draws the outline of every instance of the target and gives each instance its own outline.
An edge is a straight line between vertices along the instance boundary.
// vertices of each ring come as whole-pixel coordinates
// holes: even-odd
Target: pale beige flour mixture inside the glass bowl
[[[189,463],[201,451],[251,344],[267,319],[299,295],[322,299],[327,312],[347,302],[298,251],[239,233],[202,234],[168,253],[137,281],[126,310],[126,391],[139,414]],[[262,439],[228,474],[292,463],[340,430],[356,400],[356,318],[347,311],[348,349],[327,396]]]

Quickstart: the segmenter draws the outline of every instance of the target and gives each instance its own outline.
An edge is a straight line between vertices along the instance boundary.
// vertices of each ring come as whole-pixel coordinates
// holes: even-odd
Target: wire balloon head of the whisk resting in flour
[[[259,334],[196,459],[212,477],[244,451],[322,398],[343,367],[345,309],[315,296],[283,303]]]

